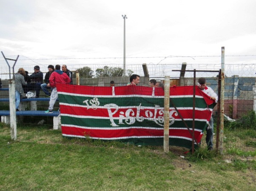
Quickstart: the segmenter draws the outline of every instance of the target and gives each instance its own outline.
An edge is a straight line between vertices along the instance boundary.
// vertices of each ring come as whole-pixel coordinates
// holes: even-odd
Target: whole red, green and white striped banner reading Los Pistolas
[[[65,137],[163,145],[164,91],[143,86],[57,85]],[[199,143],[215,103],[196,86],[195,139]],[[170,145],[191,148],[193,86],[170,88]],[[175,107],[179,111],[175,110]]]

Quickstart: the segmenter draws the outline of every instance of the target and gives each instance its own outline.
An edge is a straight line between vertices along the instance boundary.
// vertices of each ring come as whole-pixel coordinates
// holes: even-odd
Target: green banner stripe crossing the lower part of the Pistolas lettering
[[[129,122],[129,121],[128,121]],[[192,128],[192,120],[185,121],[188,127]],[[77,125],[81,127],[113,127],[111,125],[110,119],[93,119],[93,118],[76,118],[76,117],[70,117],[70,116],[61,116],[61,123],[65,125]],[[119,125],[118,127],[156,127],[156,128],[163,128],[163,126],[157,125],[154,121],[149,121],[144,119],[143,122],[138,122],[137,120],[131,124],[128,125],[125,123],[125,120],[123,120],[124,124],[118,124],[119,120],[114,119],[114,123]],[[96,125],[97,124],[97,125]],[[162,124],[163,125],[163,124]],[[175,121],[174,124],[172,124],[170,127],[176,127],[176,128],[184,128],[185,125],[182,121]],[[206,127],[205,122],[201,121],[195,121],[195,128],[203,130]],[[114,127],[113,127],[114,128]]]

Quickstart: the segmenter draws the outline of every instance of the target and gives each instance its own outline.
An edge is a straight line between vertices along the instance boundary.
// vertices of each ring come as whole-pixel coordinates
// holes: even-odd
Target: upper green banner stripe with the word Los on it
[[[59,100],[63,103],[75,104],[75,105],[86,105],[83,103],[85,100],[90,102],[94,97],[83,97],[83,96],[71,96],[59,94]],[[125,101],[124,101],[125,99]],[[188,108],[193,107],[193,97],[180,97],[180,98],[172,98],[172,101],[175,103],[177,108]],[[106,104],[115,103],[119,107],[125,107],[127,105],[138,106],[141,104],[143,107],[155,107],[155,105],[159,105],[160,107],[164,107],[164,99],[163,98],[154,98],[154,97],[98,97],[98,102],[100,102],[100,106],[104,106]],[[170,107],[174,107],[170,102]],[[206,108],[206,102],[202,98],[196,98],[196,108]],[[213,108],[213,105],[210,105],[209,108]]]

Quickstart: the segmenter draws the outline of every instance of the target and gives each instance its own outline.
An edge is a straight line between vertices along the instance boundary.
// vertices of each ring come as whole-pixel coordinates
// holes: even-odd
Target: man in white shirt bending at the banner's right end
[[[205,78],[198,79],[198,88],[202,90],[205,94],[210,96],[211,100],[218,101],[218,95],[211,89],[210,87],[206,86]],[[206,144],[208,150],[213,150],[213,117],[210,117],[209,121],[210,126],[206,128]]]

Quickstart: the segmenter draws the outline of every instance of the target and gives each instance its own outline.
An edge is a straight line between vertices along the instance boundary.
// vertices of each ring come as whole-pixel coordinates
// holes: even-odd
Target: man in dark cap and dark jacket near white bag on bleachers
[[[31,89],[36,90],[36,98],[39,98],[41,84],[43,83],[43,72],[39,66],[34,66],[34,73],[29,76],[31,80]]]

